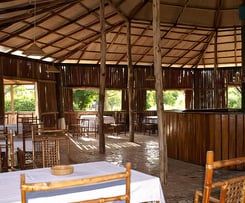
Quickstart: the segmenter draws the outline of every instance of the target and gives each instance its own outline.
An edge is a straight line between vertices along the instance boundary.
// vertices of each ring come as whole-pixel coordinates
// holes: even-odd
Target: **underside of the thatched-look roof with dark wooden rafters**
[[[152,0],[106,0],[108,64],[127,64],[131,22],[133,65],[153,63]],[[162,64],[241,65],[242,0],[160,0]],[[100,63],[100,0],[14,0],[0,3],[0,50],[23,55],[35,41],[41,59]]]

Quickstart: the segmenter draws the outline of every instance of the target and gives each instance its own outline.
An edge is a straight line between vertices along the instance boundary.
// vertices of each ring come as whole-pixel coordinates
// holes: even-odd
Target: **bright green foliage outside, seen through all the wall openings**
[[[11,86],[5,85],[5,111],[11,111]],[[35,111],[35,88],[34,85],[14,85],[14,111]],[[184,91],[164,91],[164,109],[185,109]],[[75,89],[73,91],[74,110],[98,110],[99,91],[97,89]],[[122,101],[121,90],[106,90],[105,110],[120,111]],[[228,88],[228,108],[241,108],[240,87]],[[154,90],[147,91],[146,110],[156,109],[156,93]]]

